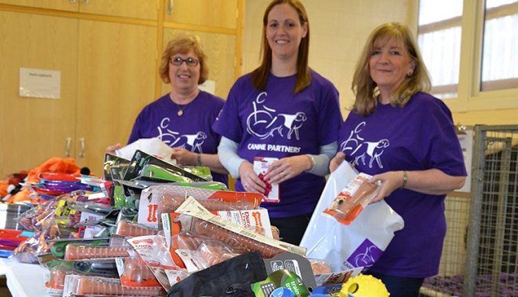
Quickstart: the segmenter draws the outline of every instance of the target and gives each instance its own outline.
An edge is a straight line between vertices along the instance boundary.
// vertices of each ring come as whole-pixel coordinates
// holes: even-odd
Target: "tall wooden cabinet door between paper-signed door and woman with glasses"
[[[96,175],[106,146],[126,144],[137,114],[156,99],[156,38],[155,27],[79,21],[76,160]]]

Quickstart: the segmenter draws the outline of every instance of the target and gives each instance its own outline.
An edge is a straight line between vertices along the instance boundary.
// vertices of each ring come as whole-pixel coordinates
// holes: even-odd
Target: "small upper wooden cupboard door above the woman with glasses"
[[[164,21],[215,28],[237,28],[238,0],[163,0]]]

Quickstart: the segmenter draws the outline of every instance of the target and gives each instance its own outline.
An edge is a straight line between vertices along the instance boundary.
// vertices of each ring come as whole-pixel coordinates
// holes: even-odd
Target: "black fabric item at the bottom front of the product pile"
[[[265,278],[265,262],[253,251],[191,274],[173,285],[167,297],[253,297],[251,283]]]

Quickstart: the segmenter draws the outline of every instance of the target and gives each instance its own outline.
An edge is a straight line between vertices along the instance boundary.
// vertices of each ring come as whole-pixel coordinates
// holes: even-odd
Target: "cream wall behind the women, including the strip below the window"
[[[269,1],[246,1],[242,73],[250,72],[259,64],[262,15]],[[399,21],[406,23],[410,28],[416,28],[417,1],[302,1],[309,15],[311,30],[309,65],[338,88],[340,106],[345,117],[345,108],[353,102],[350,86],[354,66],[367,35],[376,26],[387,21]],[[484,97],[501,96],[497,93],[495,96]],[[488,104],[483,102],[484,99],[472,98],[473,96],[466,91],[459,93],[457,102],[445,100],[453,111],[455,124],[518,124],[518,109],[513,109],[515,106],[509,103],[512,99],[507,97],[502,99],[501,104]],[[518,101],[518,98],[516,100]]]

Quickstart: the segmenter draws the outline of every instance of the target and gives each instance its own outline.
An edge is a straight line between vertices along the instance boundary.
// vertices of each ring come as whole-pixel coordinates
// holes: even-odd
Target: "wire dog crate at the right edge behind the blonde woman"
[[[475,126],[471,193],[445,200],[439,274],[421,296],[518,296],[518,126]]]

